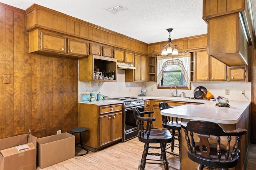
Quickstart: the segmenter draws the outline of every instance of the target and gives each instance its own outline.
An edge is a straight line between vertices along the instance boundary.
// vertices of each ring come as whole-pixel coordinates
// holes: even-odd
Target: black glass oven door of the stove
[[[144,111],[144,105],[124,108],[124,136],[123,141],[128,141],[134,137],[138,136],[138,128],[136,125],[136,121],[134,119],[134,115],[132,112],[133,108],[138,108],[139,111]]]

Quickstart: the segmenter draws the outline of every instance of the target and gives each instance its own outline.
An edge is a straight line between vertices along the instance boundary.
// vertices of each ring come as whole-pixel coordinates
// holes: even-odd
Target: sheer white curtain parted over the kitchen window
[[[157,56],[157,66],[156,66],[156,82],[159,84],[162,80],[163,71],[166,68],[166,66],[169,65],[179,65],[182,70],[181,73],[184,76],[184,80],[188,86],[188,89],[190,89],[190,53],[180,53],[179,55],[165,55]]]

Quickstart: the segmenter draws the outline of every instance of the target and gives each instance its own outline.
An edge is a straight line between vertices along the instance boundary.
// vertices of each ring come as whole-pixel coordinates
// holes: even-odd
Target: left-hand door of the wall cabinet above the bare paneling
[[[54,34],[41,32],[41,50],[66,53],[66,38]]]

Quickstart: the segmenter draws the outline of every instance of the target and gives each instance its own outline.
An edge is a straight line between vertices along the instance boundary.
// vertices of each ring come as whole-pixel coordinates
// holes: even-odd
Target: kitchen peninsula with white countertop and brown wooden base
[[[207,102],[200,105],[186,104],[162,110],[160,113],[161,115],[178,117],[181,121],[186,122],[193,119],[212,121],[222,126],[225,131],[231,131],[237,128],[247,129],[248,134],[242,137],[239,144],[239,149],[241,150],[239,163],[235,168],[232,168],[232,170],[242,170],[246,167],[249,152],[250,102],[230,101],[230,107],[218,107],[214,104],[215,102]],[[196,163],[192,162],[187,156],[187,145],[184,135],[184,131],[182,131],[181,170],[196,167]]]

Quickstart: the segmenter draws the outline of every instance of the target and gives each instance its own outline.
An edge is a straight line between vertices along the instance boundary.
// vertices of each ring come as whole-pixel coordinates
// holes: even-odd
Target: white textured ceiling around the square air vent
[[[252,1],[254,24],[256,0]],[[172,39],[207,33],[202,20],[202,0],[0,0],[26,10],[38,4],[84,20],[145,43],[168,41],[167,28],[173,28]],[[128,8],[112,14],[105,10],[115,4]]]

